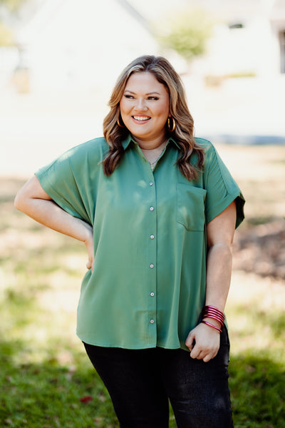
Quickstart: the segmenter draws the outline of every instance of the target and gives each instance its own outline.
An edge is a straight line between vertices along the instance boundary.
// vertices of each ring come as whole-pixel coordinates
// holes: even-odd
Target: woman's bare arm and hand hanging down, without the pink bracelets
[[[207,288],[205,305],[224,312],[232,274],[232,242],[236,224],[236,203],[232,202],[207,225]],[[205,318],[216,327],[220,324]],[[194,343],[195,342],[195,343]],[[208,362],[219,350],[219,331],[200,323],[188,335],[185,342],[191,357]]]

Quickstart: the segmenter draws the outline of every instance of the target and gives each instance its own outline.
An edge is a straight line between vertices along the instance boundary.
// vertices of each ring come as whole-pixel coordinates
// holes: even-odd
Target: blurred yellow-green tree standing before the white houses
[[[187,61],[204,54],[213,23],[203,9],[186,9],[163,21],[157,39],[163,47],[174,49]]]

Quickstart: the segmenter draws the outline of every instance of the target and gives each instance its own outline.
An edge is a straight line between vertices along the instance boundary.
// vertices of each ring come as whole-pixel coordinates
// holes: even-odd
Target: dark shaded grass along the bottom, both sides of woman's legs
[[[40,363],[22,363],[24,341],[0,342],[1,427],[118,427],[105,387],[86,355],[69,351],[71,365],[60,364],[53,350]],[[285,427],[284,365],[253,352],[234,356],[230,388],[235,428]]]

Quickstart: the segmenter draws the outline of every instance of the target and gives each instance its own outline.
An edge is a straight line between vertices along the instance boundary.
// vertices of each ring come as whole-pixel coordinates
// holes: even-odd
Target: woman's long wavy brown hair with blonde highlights
[[[177,160],[178,168],[188,180],[193,180],[197,178],[197,171],[203,166],[204,151],[194,138],[193,118],[187,106],[185,89],[180,76],[170,62],[162,56],[140,56],[125,67],[118,77],[108,103],[110,111],[103,121],[103,133],[109,145],[108,154],[103,160],[103,171],[105,175],[111,175],[124,155],[122,141],[128,136],[129,131],[125,127],[118,126],[117,121],[119,119],[122,124],[120,99],[123,97],[128,78],[133,73],[146,71],[152,73],[157,81],[165,85],[168,90],[170,114],[175,119],[176,128],[170,132],[167,123],[165,123],[165,131],[168,138],[170,136],[174,138],[180,147],[180,157]],[[198,157],[195,165],[190,163],[193,153],[197,153]]]

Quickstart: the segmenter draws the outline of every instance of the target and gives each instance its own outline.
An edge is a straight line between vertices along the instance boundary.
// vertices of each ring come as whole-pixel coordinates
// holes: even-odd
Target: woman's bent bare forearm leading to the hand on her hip
[[[66,213],[53,200],[28,198],[18,201],[16,199],[15,206],[38,223],[84,243],[92,233],[92,227],[88,223]]]

